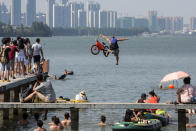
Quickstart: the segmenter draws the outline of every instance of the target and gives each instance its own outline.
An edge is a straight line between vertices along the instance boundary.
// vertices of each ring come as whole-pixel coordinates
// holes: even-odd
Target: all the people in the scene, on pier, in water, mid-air
[[[117,41],[122,41],[126,39],[115,39],[112,37],[109,40],[107,37],[103,36],[110,44],[117,45]],[[114,42],[113,42],[114,41]],[[116,49],[117,53],[115,53],[116,61],[118,65],[118,48]],[[108,52],[107,52],[108,53]],[[33,59],[33,64],[32,64]],[[42,66],[41,61],[44,60],[42,46],[40,44],[40,39],[37,38],[35,44],[31,44],[29,38],[21,38],[17,37],[16,40],[11,38],[3,38],[2,45],[0,47],[0,80],[1,82],[10,82],[11,79],[16,78],[24,78],[25,75],[35,73],[37,74],[37,82],[34,84],[32,90],[29,90],[24,96],[22,96],[21,102],[28,102],[33,101],[36,97],[43,102],[53,103],[56,102],[56,94],[52,87],[52,84],[49,80],[46,80],[47,77],[51,77],[54,80],[63,80],[66,78],[67,75],[72,75],[73,72],[68,72],[64,70],[63,75],[57,77],[56,75],[44,76],[42,73]],[[33,66],[32,66],[33,65]],[[196,102],[196,87],[191,85],[191,78],[187,77],[184,79],[184,85],[178,89],[177,96],[178,100],[175,103],[183,103],[183,104],[190,104]],[[148,97],[148,98],[147,98]],[[78,101],[88,101],[86,92],[81,91],[75,97],[75,100]],[[153,91],[149,92],[149,96],[145,93],[141,94],[141,98],[137,100],[136,103],[159,103],[160,97]],[[195,114],[195,109],[187,109],[188,113]],[[47,112],[47,111],[46,111]],[[125,122],[138,122],[139,120],[143,120],[145,122],[144,112],[154,113],[157,115],[166,115],[168,118],[172,116],[162,110],[162,109],[127,109],[124,121]],[[46,129],[43,128],[43,121],[39,119],[39,115],[34,115],[37,121],[37,129],[35,131],[45,131]],[[64,126],[70,126],[71,120],[69,120],[70,115],[69,113],[64,114],[64,120],[60,121],[60,119],[56,116],[52,117],[52,122],[50,124],[51,130],[61,130]],[[27,125],[29,124],[28,114],[23,114],[23,119],[18,122],[19,125]],[[187,127],[196,127],[196,124],[188,124],[189,118],[186,118]],[[106,125],[106,117],[101,116],[100,118],[100,126]]]

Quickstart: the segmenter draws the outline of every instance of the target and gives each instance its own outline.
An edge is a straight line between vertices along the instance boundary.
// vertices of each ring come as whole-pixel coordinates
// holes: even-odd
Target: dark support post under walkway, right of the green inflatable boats
[[[186,110],[178,109],[178,131],[186,131]]]

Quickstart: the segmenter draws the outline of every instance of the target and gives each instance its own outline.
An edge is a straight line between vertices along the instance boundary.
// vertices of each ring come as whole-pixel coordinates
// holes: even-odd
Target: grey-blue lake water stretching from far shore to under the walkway
[[[74,71],[74,75],[64,81],[52,81],[57,96],[74,98],[78,92],[85,90],[90,102],[135,102],[141,93],[154,89],[161,97],[161,102],[174,101],[177,99],[176,89],[160,90],[158,86],[164,75],[179,70],[190,73],[192,84],[196,85],[196,37],[128,38],[128,41],[119,43],[118,66],[112,54],[106,58],[103,53],[97,56],[90,53],[95,37],[41,38],[45,58],[50,59],[50,73],[60,76],[64,69]],[[179,85],[182,85],[182,81],[179,81]],[[53,115],[62,120],[66,111],[69,110],[49,112],[44,127],[48,129],[47,123]],[[162,130],[177,131],[177,114],[168,112],[173,119]],[[105,115],[107,123],[112,125],[121,121],[124,113],[125,110],[81,110],[79,130],[111,131],[111,126],[96,126],[100,116]],[[196,123],[195,117],[190,119]],[[27,127],[16,129],[33,130],[35,127],[36,123],[32,119]]]

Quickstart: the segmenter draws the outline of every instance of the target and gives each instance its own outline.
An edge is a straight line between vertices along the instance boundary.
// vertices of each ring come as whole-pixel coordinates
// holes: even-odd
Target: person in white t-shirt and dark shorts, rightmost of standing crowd
[[[33,51],[33,59],[34,59],[36,72],[40,73],[41,56],[42,56],[42,59],[44,59],[44,54],[43,54],[43,50],[42,50],[42,46],[40,44],[39,38],[37,38],[36,43],[32,45],[32,51]]]

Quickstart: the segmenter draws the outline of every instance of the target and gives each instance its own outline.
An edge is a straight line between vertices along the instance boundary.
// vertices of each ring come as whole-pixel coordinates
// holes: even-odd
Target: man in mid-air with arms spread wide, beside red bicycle
[[[118,41],[124,41],[124,40],[128,40],[127,38],[119,38],[116,39],[115,36],[112,36],[110,39],[102,34],[100,34],[100,37],[104,38],[110,45],[110,49],[108,49],[108,51],[106,52],[106,56],[108,56],[108,54],[110,52],[114,53],[114,56],[116,57],[116,65],[118,65],[118,61],[119,61],[119,47],[118,47]]]

